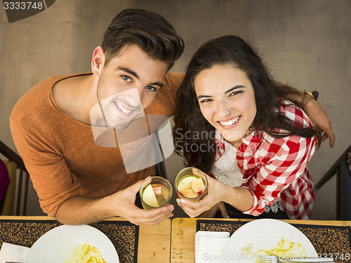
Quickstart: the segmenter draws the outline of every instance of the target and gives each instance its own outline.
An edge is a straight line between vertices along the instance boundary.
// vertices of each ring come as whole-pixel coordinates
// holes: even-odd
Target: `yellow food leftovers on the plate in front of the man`
[[[74,248],[65,263],[106,263],[97,248],[88,243],[81,243]]]

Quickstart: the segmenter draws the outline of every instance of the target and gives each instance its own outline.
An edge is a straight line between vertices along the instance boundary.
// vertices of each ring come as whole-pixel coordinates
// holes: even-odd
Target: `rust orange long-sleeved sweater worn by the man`
[[[54,216],[72,196],[102,198],[154,175],[154,167],[126,173],[118,146],[99,147],[91,126],[64,114],[53,102],[52,88],[69,76],[51,76],[23,95],[10,117],[18,153],[32,179],[44,213]],[[168,73],[145,114],[172,116],[183,74]]]

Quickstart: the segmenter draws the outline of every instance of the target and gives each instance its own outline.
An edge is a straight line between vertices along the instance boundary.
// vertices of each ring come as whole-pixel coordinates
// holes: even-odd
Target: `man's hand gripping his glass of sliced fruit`
[[[150,180],[148,177],[145,180]],[[124,217],[133,224],[159,224],[162,220],[173,216],[173,205],[167,205],[154,210],[144,210],[135,206],[135,195],[138,194],[141,184],[144,180],[133,184],[122,191],[113,195],[113,199],[117,205],[114,205],[117,210],[117,215]],[[112,196],[111,196],[112,197]]]

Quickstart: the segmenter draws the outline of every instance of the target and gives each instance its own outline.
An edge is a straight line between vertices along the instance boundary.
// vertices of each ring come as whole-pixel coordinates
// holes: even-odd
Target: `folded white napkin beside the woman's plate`
[[[197,231],[195,234],[195,263],[220,262],[229,238],[229,232]]]

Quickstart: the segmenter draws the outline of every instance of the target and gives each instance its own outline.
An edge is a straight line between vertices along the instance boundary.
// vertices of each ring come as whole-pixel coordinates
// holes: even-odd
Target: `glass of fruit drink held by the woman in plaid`
[[[196,175],[194,170],[197,170]],[[174,182],[178,198],[199,201],[207,194],[207,178],[201,170],[187,167],[180,170]]]

